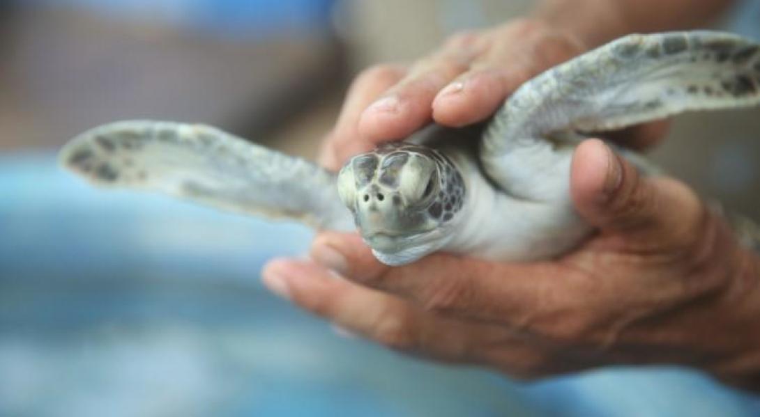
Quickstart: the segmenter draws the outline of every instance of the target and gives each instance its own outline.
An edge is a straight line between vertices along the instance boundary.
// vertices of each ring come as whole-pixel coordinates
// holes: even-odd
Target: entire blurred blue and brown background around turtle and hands
[[[305,227],[94,190],[55,164],[125,118],[311,156],[361,67],[529,6],[0,0],[0,415],[760,415],[686,369],[520,384],[341,336],[258,281],[306,250]],[[758,3],[724,25],[752,36]],[[760,118],[737,113],[680,118],[655,158],[757,218]]]

